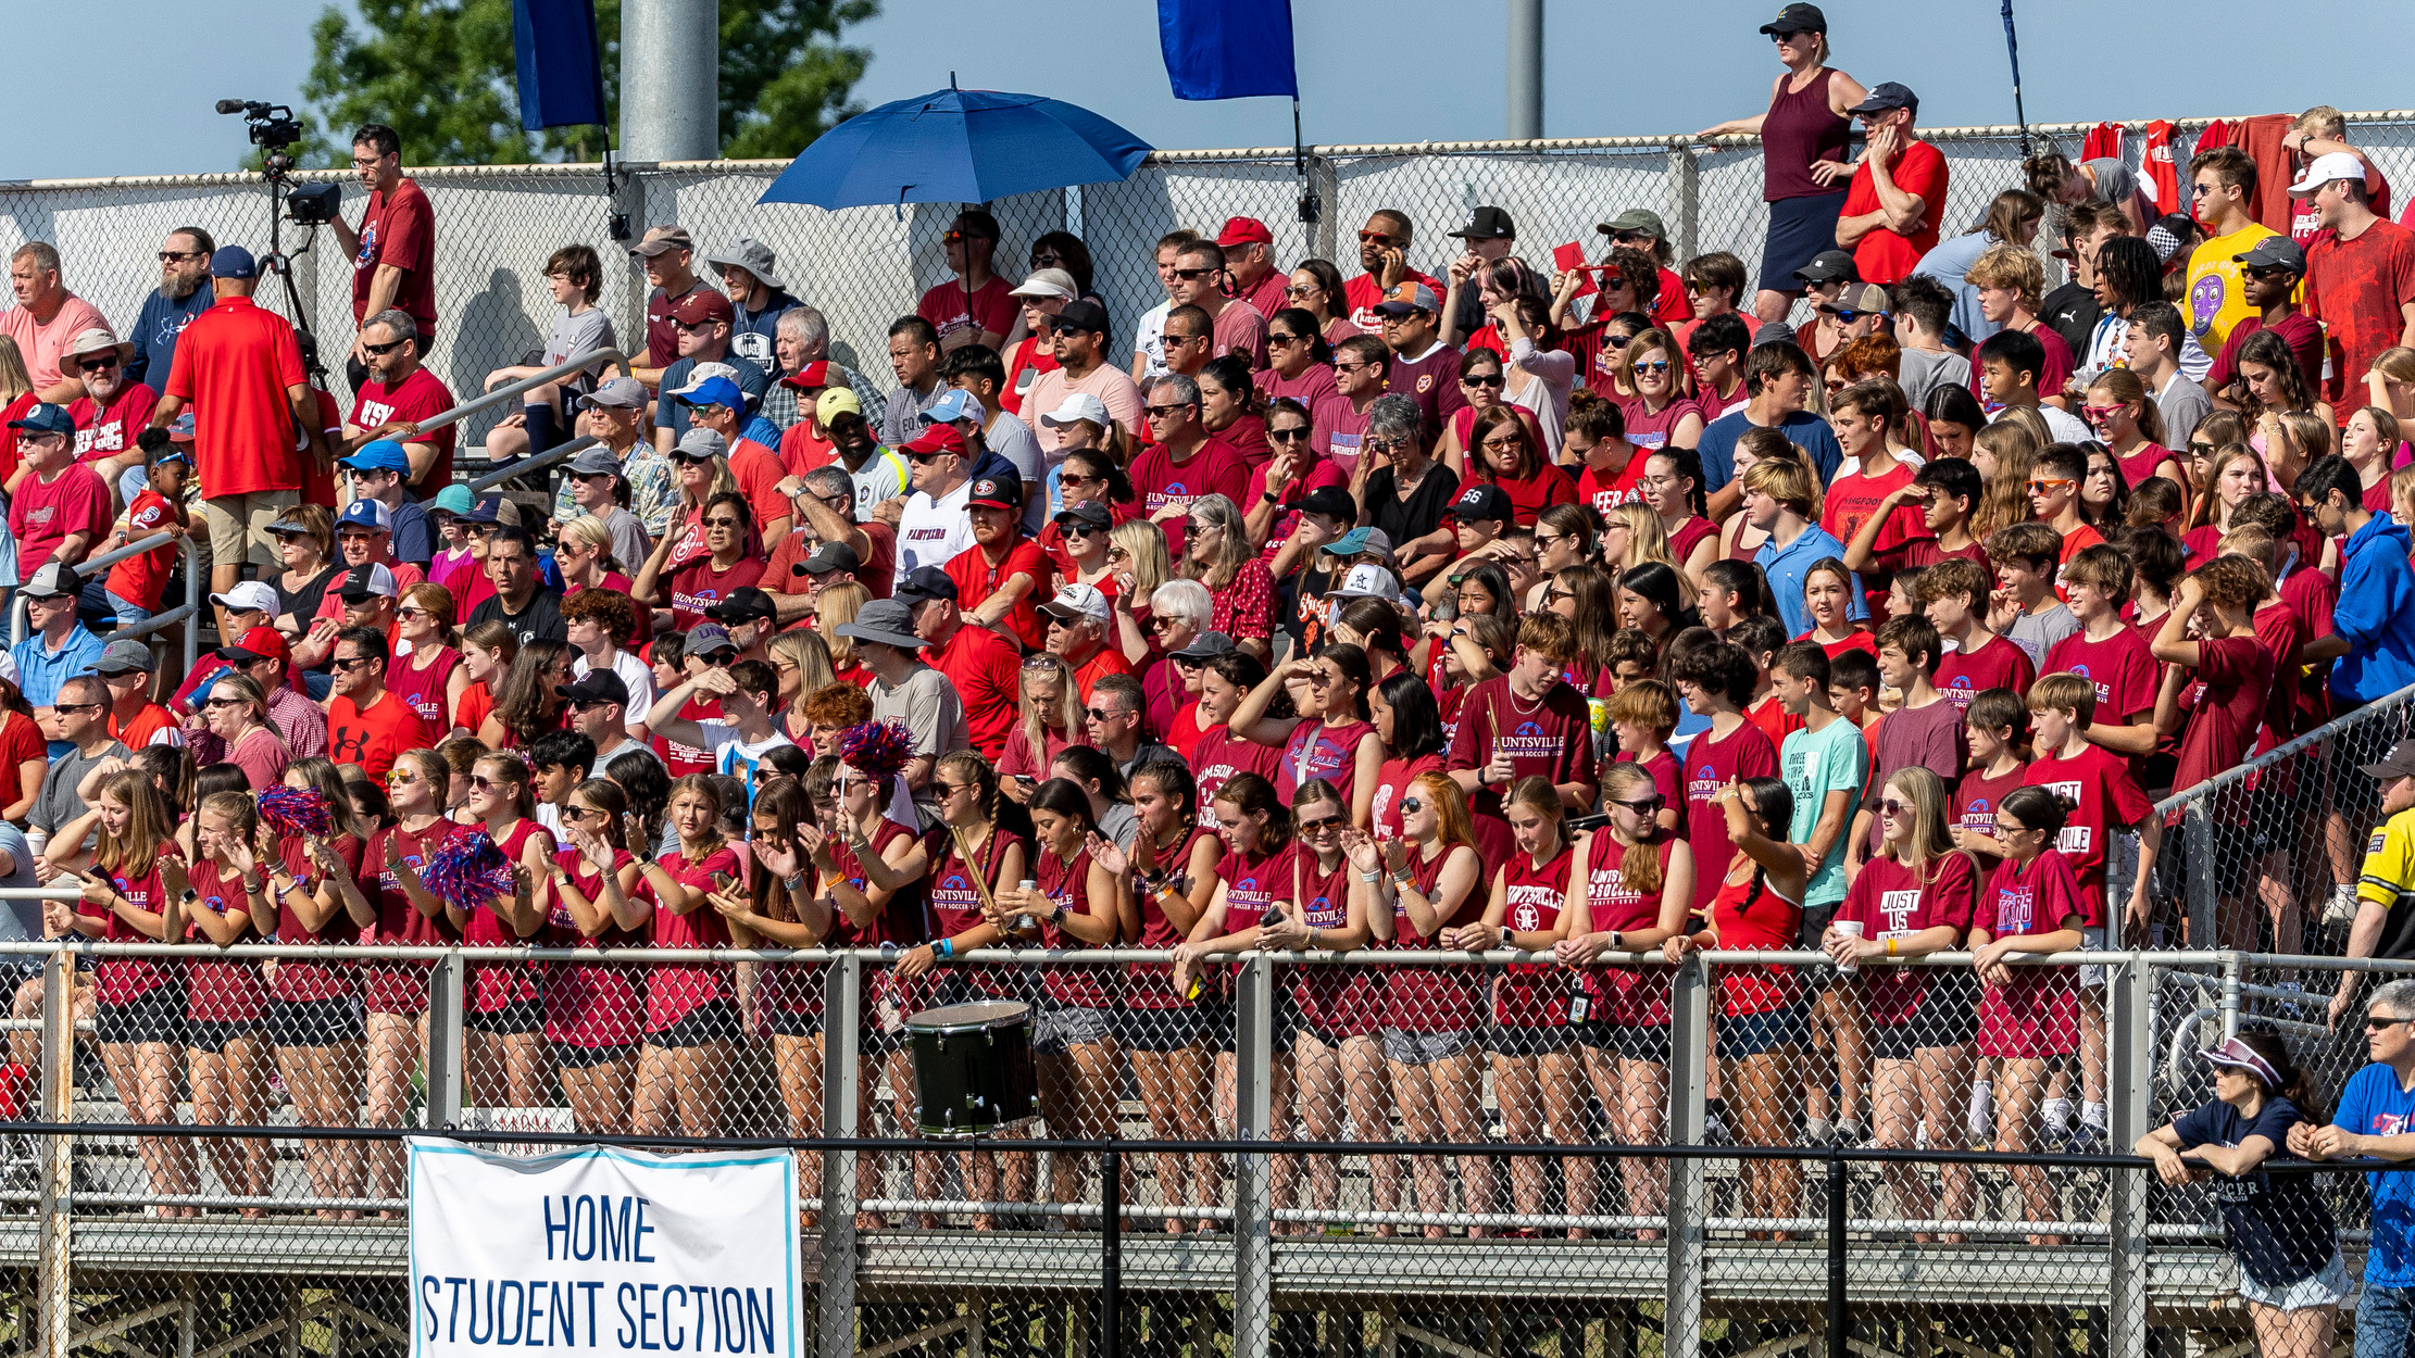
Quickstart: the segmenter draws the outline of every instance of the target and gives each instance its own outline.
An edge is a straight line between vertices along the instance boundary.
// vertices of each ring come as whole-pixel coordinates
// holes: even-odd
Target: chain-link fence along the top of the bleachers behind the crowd
[[[2415,186],[2415,113],[2350,113],[2350,123],[2357,145],[2393,183]],[[2178,123],[2176,147],[2190,147],[2202,128],[2202,118]],[[2082,125],[2033,128],[2036,137],[2074,157],[2082,133]],[[1949,236],[1978,222],[1997,191],[2021,183],[2017,128],[1922,135],[1946,152],[1951,166]],[[2125,137],[2125,157],[2132,164],[2145,157],[2142,133]],[[1415,222],[1410,263],[1439,275],[1454,253],[1444,232],[1466,222],[1478,203],[1509,207],[1521,232],[1519,253],[1546,268],[1550,246],[1582,241],[1589,258],[1599,256],[1599,222],[1628,207],[1652,207],[1669,222],[1678,258],[1734,251],[1758,273],[1768,232],[1758,162],[1751,137],[1309,147],[1299,157],[1292,150],[1159,152],[1123,183],[1031,193],[990,207],[1005,227],[997,261],[1009,277],[1024,273],[1038,234],[1065,229],[1082,236],[1116,343],[1128,345],[1140,314],[1164,299],[1154,273],[1157,239],[1176,227],[1215,234],[1227,217],[1263,219],[1282,263],[1331,258],[1355,275],[1352,232],[1377,207],[1393,207]],[[647,287],[625,256],[630,241],[616,241],[606,229],[613,212],[625,212],[633,234],[679,222],[703,248],[739,236],[761,239],[780,258],[790,292],[828,316],[836,357],[886,381],[886,328],[913,311],[925,287],[947,282],[939,234],[956,207],[908,203],[826,212],[758,205],[780,169],[785,162],[628,166],[613,176],[592,164],[413,169],[437,217],[430,367],[456,396],[466,396],[488,371],[543,347],[553,323],[543,263],[558,246],[580,241],[625,263],[606,270],[601,306],[623,350],[630,350],[642,333]],[[357,219],[357,183],[324,171],[304,178],[343,178],[345,212]],[[1316,203],[1314,219],[1304,219],[1304,195]],[[0,248],[56,244],[68,287],[121,330],[133,326],[157,285],[150,261],[167,232],[193,224],[220,241],[263,251],[268,217],[266,186],[244,174],[0,183]],[[2041,251],[2048,244],[2041,239]],[[295,251],[302,318],[324,338],[326,352],[341,357],[353,335],[350,261],[338,256],[328,232],[304,236],[292,224],[285,227],[285,248]],[[2046,263],[2048,277],[2060,282],[2060,263]],[[263,282],[261,297],[292,316],[280,285]],[[466,441],[478,444],[490,422],[473,420]]]

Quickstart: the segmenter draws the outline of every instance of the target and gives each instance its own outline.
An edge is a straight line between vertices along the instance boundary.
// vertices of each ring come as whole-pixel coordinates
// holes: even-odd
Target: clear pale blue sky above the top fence
[[[116,0],[109,27],[138,41],[111,46],[104,82],[77,60],[14,72],[0,178],[232,169],[242,123],[213,116],[210,104],[297,101],[321,7],[246,0],[242,22],[222,24],[191,0]],[[2340,53],[2415,43],[2415,5],[2369,0],[2294,0],[2287,31],[2309,36],[2294,48],[2273,41],[2282,34],[2273,34],[2270,2],[2198,0],[2186,19],[2101,0],[2017,7],[2031,121],[2391,109],[2405,92],[2396,65]],[[1543,133],[1690,133],[1758,113],[1777,65],[1753,29],[1775,10],[1775,0],[1548,0]],[[1862,82],[1903,80],[1920,92],[1925,123],[2012,121],[1995,0],[1835,0],[1826,10],[1835,65]],[[1502,135],[1502,0],[1302,0],[1294,14],[1311,142]],[[867,104],[944,87],[954,70],[964,84],[1087,104],[1162,147],[1292,140],[1285,99],[1176,101],[1150,0],[884,0],[881,17],[848,41],[874,53],[857,87]],[[2241,80],[2251,63],[2253,80]]]

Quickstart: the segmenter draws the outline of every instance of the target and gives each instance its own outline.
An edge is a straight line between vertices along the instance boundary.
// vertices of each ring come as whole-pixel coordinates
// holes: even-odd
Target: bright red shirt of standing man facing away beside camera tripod
[[[285,393],[304,381],[292,323],[249,297],[222,297],[184,328],[167,396],[193,408],[193,470],[213,497],[302,487]]]

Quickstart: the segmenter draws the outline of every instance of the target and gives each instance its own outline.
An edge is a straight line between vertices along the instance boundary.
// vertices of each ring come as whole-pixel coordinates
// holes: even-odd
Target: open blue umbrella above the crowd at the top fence
[[[937,89],[857,113],[804,147],[758,203],[988,203],[1130,178],[1150,145],[1038,94]]]

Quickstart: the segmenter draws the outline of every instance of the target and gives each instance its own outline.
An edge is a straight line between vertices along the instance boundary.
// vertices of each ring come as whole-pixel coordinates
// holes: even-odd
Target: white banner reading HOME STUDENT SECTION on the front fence
[[[797,1160],[411,1139],[411,1353],[799,1358]]]

